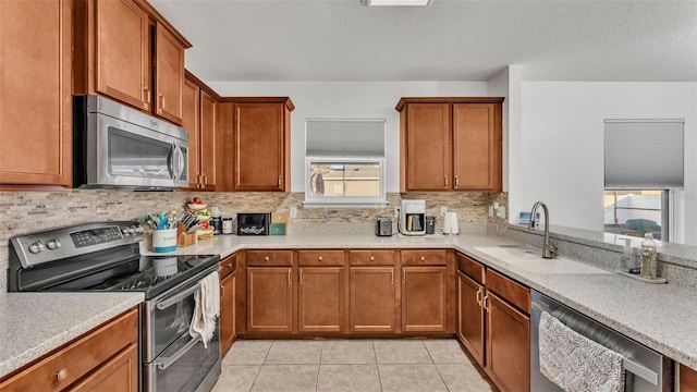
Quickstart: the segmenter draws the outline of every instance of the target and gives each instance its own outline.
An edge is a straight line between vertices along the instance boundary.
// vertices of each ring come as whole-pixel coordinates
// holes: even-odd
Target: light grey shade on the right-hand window
[[[682,120],[606,120],[607,189],[684,186]]]

